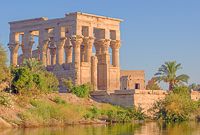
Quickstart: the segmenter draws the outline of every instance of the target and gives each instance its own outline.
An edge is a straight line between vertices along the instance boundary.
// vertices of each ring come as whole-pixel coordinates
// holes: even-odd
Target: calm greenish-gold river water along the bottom
[[[200,123],[76,125],[65,128],[2,129],[0,135],[200,135]]]

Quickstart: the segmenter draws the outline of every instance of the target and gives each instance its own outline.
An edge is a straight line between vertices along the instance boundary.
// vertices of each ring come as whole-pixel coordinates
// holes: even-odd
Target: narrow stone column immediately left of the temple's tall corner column
[[[68,37],[66,42],[65,42],[65,63],[69,64],[72,63],[72,45],[71,45],[71,41],[70,38]]]

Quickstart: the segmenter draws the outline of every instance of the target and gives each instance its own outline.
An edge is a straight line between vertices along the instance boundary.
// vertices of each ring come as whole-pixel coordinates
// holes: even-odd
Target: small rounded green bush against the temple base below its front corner
[[[83,84],[80,86],[73,86],[71,92],[78,97],[85,98],[89,97],[91,87],[89,84]]]

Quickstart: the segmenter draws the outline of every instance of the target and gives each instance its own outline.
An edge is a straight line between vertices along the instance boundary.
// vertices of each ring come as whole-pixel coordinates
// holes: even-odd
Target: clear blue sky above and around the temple
[[[0,42],[9,21],[86,12],[121,18],[121,68],[145,70],[150,79],[165,61],[182,63],[180,73],[200,83],[199,0],[1,0]]]

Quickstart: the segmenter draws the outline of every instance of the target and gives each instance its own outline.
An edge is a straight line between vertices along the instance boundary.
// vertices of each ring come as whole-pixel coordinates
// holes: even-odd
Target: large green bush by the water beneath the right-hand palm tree
[[[164,100],[158,101],[151,109],[156,119],[167,122],[181,122],[188,120],[197,109],[192,101],[187,87],[176,87]]]

